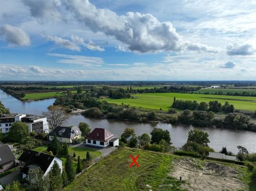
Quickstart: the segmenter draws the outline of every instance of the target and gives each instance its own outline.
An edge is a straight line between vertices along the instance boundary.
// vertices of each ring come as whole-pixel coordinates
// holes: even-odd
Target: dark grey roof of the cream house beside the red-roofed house
[[[61,135],[59,135],[59,133],[61,133]],[[57,137],[61,137],[61,138],[73,138],[76,137],[78,135],[81,135],[81,130],[80,128],[74,126],[74,127],[61,127],[58,126],[55,129],[53,129],[48,136],[54,136],[54,134],[56,134]]]

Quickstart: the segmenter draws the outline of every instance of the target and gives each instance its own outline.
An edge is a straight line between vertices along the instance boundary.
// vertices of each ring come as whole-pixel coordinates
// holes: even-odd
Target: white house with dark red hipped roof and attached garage
[[[105,128],[94,128],[93,131],[86,137],[86,145],[96,147],[118,146],[119,139]]]

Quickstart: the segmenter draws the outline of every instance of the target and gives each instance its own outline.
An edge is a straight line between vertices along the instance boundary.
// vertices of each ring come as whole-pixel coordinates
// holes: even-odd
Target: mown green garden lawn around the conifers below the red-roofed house
[[[33,150],[43,152],[43,151],[47,150],[47,147],[46,146],[41,146],[41,147],[37,147],[37,148],[35,148]],[[77,148],[77,147],[69,147],[69,154],[70,154],[70,156],[73,156],[73,154],[76,153],[76,158],[78,156],[80,156],[81,159],[86,159],[86,152],[87,151],[89,151],[91,153],[91,156],[92,156],[93,159],[95,159],[96,157],[99,157],[101,155],[101,152],[97,151],[97,150],[85,149],[85,148]],[[62,159],[62,166],[64,166],[66,158],[65,157],[61,157],[60,159]],[[77,161],[73,161],[73,168],[76,170],[76,168],[77,168]]]

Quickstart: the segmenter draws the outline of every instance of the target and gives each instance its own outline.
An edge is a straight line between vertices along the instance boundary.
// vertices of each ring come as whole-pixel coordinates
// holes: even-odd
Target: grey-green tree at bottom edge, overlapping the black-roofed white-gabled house
[[[28,175],[32,191],[50,191],[48,176],[44,177],[44,172],[40,168],[29,169]]]

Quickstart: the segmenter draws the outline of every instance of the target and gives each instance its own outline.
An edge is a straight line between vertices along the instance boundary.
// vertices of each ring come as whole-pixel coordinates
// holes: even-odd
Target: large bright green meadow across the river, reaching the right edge
[[[116,104],[129,104],[130,106],[142,107],[148,109],[168,110],[173,104],[174,97],[176,100],[196,100],[198,102],[207,102],[218,100],[221,104],[228,101],[233,104],[235,109],[255,111],[256,110],[256,97],[245,96],[219,96],[219,95],[202,95],[202,94],[179,94],[179,93],[147,93],[132,95],[138,98],[126,99],[110,99],[106,98],[109,103]]]

